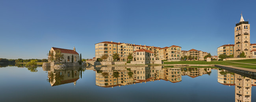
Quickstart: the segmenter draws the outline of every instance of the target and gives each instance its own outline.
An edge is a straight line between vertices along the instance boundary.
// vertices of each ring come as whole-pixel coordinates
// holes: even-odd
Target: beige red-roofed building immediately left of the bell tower
[[[228,45],[222,45],[221,47],[217,48],[217,56],[219,58],[219,55],[225,54],[225,55],[232,55],[234,54],[234,45],[228,44]]]

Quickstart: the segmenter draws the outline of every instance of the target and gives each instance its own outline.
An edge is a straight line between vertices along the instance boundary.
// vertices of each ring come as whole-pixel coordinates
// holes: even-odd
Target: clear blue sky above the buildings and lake
[[[95,57],[95,43],[114,41],[202,50],[234,44],[234,27],[250,23],[255,0],[0,0],[0,58],[47,59],[51,47]]]

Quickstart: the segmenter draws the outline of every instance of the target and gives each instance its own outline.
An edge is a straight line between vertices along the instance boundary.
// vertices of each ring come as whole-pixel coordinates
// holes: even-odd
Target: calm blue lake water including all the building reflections
[[[0,102],[256,102],[256,80],[219,68],[20,66],[0,64]]]

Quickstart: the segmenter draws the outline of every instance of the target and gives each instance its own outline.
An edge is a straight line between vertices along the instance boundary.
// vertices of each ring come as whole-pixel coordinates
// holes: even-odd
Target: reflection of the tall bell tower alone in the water
[[[235,74],[235,102],[251,102],[251,79]]]

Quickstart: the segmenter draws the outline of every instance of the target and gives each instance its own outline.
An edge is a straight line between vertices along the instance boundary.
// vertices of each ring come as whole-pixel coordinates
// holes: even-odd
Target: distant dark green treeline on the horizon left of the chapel
[[[0,63],[25,63],[35,59],[3,59],[0,58]],[[47,59],[36,59],[37,62],[47,62]]]

